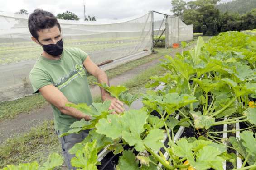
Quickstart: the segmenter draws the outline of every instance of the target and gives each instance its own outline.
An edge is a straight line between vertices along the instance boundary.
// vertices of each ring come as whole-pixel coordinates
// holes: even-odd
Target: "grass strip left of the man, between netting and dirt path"
[[[28,113],[31,110],[41,108],[47,104],[47,101],[41,94],[26,96],[14,101],[5,101],[0,103],[0,121],[12,119],[20,113]]]

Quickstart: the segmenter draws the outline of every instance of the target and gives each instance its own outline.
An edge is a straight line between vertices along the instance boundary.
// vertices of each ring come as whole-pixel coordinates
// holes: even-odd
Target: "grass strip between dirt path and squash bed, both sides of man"
[[[145,84],[150,81],[152,75],[162,75],[165,70],[159,65],[146,69],[123,85],[129,88],[132,94],[145,92]],[[101,97],[94,99],[100,102]],[[0,145],[0,167],[9,164],[19,164],[22,162],[47,160],[48,154],[61,152],[57,135],[54,133],[53,121],[45,121],[21,136],[14,136],[7,139]]]

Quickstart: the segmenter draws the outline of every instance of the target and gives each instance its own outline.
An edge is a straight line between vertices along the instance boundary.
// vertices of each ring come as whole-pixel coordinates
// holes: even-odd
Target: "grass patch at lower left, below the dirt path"
[[[21,162],[45,161],[49,152],[60,151],[53,121],[32,128],[29,133],[7,139],[0,145],[0,167]],[[45,155],[45,156],[43,156]]]

